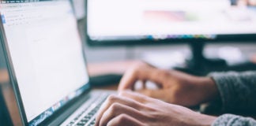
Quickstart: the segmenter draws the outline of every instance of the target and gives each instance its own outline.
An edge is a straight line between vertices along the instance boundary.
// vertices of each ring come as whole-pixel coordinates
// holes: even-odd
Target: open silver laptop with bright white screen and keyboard
[[[23,125],[94,125],[115,91],[91,90],[68,0],[0,1],[1,44]]]

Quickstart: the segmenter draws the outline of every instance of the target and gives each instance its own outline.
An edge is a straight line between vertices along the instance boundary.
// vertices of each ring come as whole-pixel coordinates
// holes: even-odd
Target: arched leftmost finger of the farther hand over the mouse
[[[137,80],[151,80],[154,83],[162,84],[166,75],[165,73],[168,72],[152,67],[131,69],[122,77],[119,83],[119,91],[133,89],[134,83]]]

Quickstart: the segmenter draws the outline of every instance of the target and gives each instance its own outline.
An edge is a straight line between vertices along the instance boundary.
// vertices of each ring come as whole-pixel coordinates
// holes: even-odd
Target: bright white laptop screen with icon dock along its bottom
[[[68,0],[1,1],[3,31],[29,124],[39,124],[88,86]]]

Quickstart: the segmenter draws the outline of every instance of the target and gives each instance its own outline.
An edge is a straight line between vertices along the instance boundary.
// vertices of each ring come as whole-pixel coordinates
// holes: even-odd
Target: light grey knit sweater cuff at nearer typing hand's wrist
[[[240,117],[232,114],[224,114],[214,120],[212,126],[254,126],[256,120],[250,117]]]

